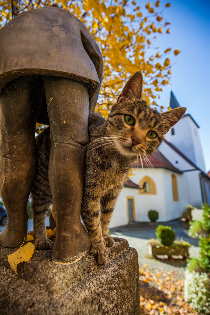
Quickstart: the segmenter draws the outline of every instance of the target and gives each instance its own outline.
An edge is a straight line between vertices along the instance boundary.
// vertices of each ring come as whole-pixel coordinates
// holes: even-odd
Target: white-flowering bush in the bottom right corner
[[[184,300],[199,314],[210,314],[210,278],[206,272],[185,271]]]

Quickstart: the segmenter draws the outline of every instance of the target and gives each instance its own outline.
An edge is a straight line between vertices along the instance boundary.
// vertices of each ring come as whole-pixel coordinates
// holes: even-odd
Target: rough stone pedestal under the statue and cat
[[[55,264],[52,249],[35,250],[30,261],[18,266],[18,276],[7,261],[14,249],[0,246],[0,313],[139,315],[138,254],[125,239],[114,239],[105,267],[91,255]]]

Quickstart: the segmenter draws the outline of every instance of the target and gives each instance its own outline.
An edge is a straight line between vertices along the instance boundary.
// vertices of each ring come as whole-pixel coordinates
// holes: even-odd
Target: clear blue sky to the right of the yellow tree
[[[149,2],[149,0],[148,0]],[[150,0],[154,7],[154,0]],[[171,47],[180,54],[171,54],[174,64],[170,80],[172,91],[180,106],[187,107],[200,126],[199,134],[206,170],[210,170],[210,1],[209,0],[160,0],[161,5],[171,3],[163,12],[171,23],[170,34],[158,36],[156,46],[160,53]],[[145,0],[137,3],[144,11]],[[158,104],[166,107],[170,95],[166,86]],[[183,135],[184,136],[184,135]]]

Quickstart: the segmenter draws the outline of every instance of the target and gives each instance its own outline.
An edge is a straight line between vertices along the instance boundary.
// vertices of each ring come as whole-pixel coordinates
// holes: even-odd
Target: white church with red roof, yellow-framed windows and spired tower
[[[173,92],[170,107],[179,107]],[[210,177],[205,164],[198,130],[190,114],[185,114],[165,135],[159,149],[150,157],[133,165],[132,177],[123,187],[109,227],[134,221],[149,221],[150,209],[159,212],[158,221],[182,216],[187,204],[200,208],[210,204]]]

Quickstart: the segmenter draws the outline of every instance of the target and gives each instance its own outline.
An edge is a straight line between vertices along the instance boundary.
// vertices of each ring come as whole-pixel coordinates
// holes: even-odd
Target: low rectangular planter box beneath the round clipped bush
[[[189,258],[188,246],[176,244],[175,246],[151,245],[149,244],[149,254],[156,257],[157,255],[182,256],[183,259]]]

